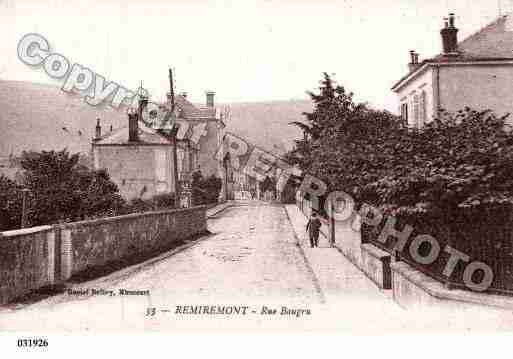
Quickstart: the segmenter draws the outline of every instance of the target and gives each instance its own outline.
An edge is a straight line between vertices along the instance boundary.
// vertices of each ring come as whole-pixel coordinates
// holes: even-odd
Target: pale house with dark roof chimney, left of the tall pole
[[[128,126],[102,135],[100,119],[92,143],[94,169],[106,169],[126,199],[174,192],[173,143],[128,114]]]

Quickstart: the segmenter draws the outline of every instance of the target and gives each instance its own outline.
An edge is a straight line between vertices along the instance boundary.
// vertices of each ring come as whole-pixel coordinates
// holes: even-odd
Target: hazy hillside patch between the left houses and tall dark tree
[[[302,136],[301,130],[289,125],[303,121],[303,112],[312,110],[308,100],[290,100],[255,103],[232,103],[231,119],[227,129],[251,143],[278,155],[290,150],[294,140]]]

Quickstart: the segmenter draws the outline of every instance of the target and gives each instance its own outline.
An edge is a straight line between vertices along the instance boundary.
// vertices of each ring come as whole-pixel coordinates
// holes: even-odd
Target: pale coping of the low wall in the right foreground
[[[393,273],[397,273],[432,297],[442,300],[472,303],[489,307],[513,309],[513,298],[490,293],[471,292],[462,289],[448,289],[442,283],[412,268],[404,262],[390,264]]]

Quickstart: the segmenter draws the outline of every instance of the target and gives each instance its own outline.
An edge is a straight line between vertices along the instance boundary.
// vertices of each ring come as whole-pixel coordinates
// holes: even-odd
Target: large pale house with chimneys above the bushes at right
[[[466,106],[498,115],[513,112],[513,15],[459,42],[455,15],[449,14],[440,34],[443,52],[420,62],[410,51],[409,72],[392,87],[402,120],[420,128],[440,109],[456,112]]]

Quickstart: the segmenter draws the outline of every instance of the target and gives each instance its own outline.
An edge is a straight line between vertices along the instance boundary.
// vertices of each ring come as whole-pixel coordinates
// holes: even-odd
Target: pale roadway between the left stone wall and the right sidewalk
[[[119,289],[149,290],[149,297],[65,293],[0,313],[0,328],[171,329],[193,328],[202,325],[201,321],[207,327],[237,327],[266,320],[260,315],[263,306],[280,311],[282,305],[306,309],[322,302],[283,206],[242,204],[212,217],[208,225],[213,234],[181,252],[74,285],[76,290],[96,288],[115,293]],[[229,321],[206,320],[208,315],[177,316],[177,305],[241,305],[256,314]],[[155,317],[145,317],[148,307],[156,308]],[[288,325],[285,320],[282,323]]]

